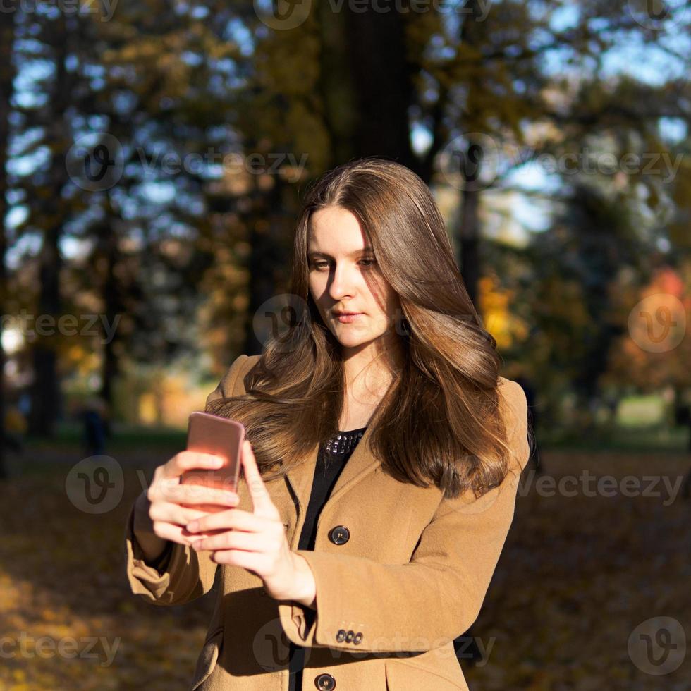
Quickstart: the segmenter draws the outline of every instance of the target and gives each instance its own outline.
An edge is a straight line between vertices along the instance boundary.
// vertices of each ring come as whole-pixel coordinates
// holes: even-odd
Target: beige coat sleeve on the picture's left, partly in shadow
[[[243,371],[247,355],[233,361],[228,372],[207,396],[207,403],[222,396],[233,396],[236,381]],[[125,528],[126,574],[130,589],[135,595],[157,605],[176,605],[189,602],[209,592],[214,585],[216,564],[211,552],[197,552],[188,545],[169,541],[166,551],[154,565],[145,561],[137,534],[150,532],[148,516],[130,510]]]

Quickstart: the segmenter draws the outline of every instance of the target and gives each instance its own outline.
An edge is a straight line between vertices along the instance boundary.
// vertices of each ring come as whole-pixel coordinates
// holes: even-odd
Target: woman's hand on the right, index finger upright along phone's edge
[[[213,551],[211,558],[216,563],[242,566],[255,573],[274,599],[312,604],[315,589],[312,570],[288,545],[281,515],[271,501],[252,446],[246,439],[241,457],[252,512],[229,508],[191,521],[187,529],[200,537],[192,547]],[[208,534],[208,531],[221,532]]]

